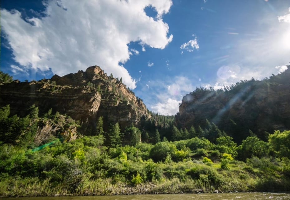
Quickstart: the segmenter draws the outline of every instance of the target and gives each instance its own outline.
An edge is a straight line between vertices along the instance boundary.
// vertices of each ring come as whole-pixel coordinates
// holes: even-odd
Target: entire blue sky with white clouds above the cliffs
[[[113,73],[155,113],[196,87],[283,72],[289,0],[1,0],[1,71],[40,80]]]

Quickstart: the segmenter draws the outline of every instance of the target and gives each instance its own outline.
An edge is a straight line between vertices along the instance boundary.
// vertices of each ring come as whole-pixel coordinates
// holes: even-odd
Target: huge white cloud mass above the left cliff
[[[1,28],[13,59],[26,69],[51,69],[62,76],[99,65],[134,89],[136,81],[119,65],[132,54],[127,44],[139,42],[144,51],[144,45],[164,49],[172,41],[162,20],[171,0],[62,0],[61,4],[52,0],[45,5],[46,16],[27,18],[30,23],[17,10],[1,9]],[[157,20],[146,15],[147,6],[156,10]]]

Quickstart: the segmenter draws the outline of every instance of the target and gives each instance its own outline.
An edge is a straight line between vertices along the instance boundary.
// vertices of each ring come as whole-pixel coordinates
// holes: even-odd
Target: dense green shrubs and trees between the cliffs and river
[[[290,131],[266,141],[254,133],[240,145],[214,123],[178,129],[173,116],[152,113],[140,127],[89,133],[69,116],[51,110],[10,116],[0,109],[0,196],[155,192],[286,191],[290,188]],[[36,146],[44,122],[62,129]],[[78,127],[69,142],[62,134]],[[196,190],[201,189],[201,190]]]

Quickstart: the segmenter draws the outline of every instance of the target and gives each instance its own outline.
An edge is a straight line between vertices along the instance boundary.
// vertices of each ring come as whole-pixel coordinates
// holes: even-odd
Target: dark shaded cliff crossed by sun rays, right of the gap
[[[290,129],[290,67],[262,81],[242,81],[229,90],[196,90],[183,97],[176,123],[183,128],[214,122],[240,142],[249,130],[262,139],[265,132]]]

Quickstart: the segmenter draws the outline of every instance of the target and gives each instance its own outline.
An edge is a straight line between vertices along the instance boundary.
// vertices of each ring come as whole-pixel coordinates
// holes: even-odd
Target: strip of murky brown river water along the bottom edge
[[[120,196],[80,196],[80,197],[20,197],[0,198],[1,200],[230,200],[230,199],[290,199],[290,193],[250,192],[250,193],[218,193],[218,194],[146,194]]]

